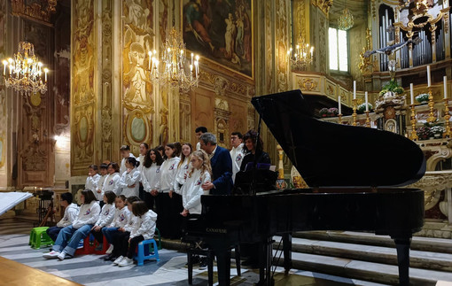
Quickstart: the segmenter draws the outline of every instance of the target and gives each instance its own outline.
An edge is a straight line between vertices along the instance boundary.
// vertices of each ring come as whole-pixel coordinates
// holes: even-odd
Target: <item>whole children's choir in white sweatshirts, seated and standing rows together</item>
[[[199,137],[211,135],[207,128],[196,131]],[[224,160],[232,161],[233,166],[227,170],[232,169],[234,175],[245,158],[242,138],[240,133],[232,133],[233,150],[230,158]],[[213,140],[216,144],[216,139]],[[212,193],[212,188],[219,191],[222,187],[220,183],[213,184],[217,178],[213,176],[210,160],[215,151],[223,150],[209,142],[203,141],[210,149],[198,143],[195,151],[191,143],[167,143],[153,149],[142,143],[138,158],[124,145],[120,150],[121,164],[89,166],[80,209],[72,203],[70,193],[61,196],[65,216],[56,227],[48,229],[55,244],[43,258],[71,258],[81,240],[92,234],[98,245],[102,246],[104,239],[110,244],[105,260],[120,267],[130,266],[136,245],[151,239],[156,227],[162,237],[181,238],[186,220],[201,213],[201,196]]]

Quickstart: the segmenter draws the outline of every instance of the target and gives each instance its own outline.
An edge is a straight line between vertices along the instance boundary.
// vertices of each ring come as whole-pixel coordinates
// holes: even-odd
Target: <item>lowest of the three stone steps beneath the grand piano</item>
[[[398,267],[358,259],[341,259],[331,256],[292,252],[293,268],[322,274],[384,284],[397,284]],[[282,266],[282,259],[277,265]],[[438,281],[452,282],[452,273],[410,267],[411,285],[435,285]]]

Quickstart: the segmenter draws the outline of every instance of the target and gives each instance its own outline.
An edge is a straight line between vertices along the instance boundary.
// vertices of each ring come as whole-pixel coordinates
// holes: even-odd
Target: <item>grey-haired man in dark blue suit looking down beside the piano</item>
[[[216,137],[212,133],[205,133],[199,137],[202,150],[210,157],[213,182],[202,185],[202,189],[210,189],[211,195],[230,195],[232,189],[232,160],[230,151],[216,144]]]

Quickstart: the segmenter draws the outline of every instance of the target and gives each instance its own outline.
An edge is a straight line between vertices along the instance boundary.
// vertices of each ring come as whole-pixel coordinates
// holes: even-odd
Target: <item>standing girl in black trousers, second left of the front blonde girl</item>
[[[177,164],[181,160],[181,158],[175,156],[174,143],[168,143],[165,146],[165,158],[167,159],[160,166],[160,180],[155,186],[155,190],[159,193],[155,202],[157,213],[159,214],[157,228],[160,230],[160,236],[172,238],[176,234],[172,233],[173,228],[171,228],[171,217],[174,212],[171,199],[173,197]]]

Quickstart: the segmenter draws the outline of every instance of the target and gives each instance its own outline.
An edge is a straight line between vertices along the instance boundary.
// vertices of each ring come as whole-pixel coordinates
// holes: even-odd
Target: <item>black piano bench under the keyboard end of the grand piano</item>
[[[187,241],[185,241],[187,242]],[[208,284],[209,286],[214,285],[214,257],[215,253],[213,250],[209,250],[207,248],[201,248],[201,243],[194,242],[191,243],[190,247],[187,249],[187,264],[188,264],[188,282],[191,285],[193,283],[193,258],[195,255],[206,256],[207,257],[207,275],[208,275]],[[205,245],[203,246],[205,247]],[[240,271],[240,246],[235,245],[231,246],[228,250],[228,254],[230,257],[230,251],[234,248],[234,254],[236,259],[236,267],[238,276],[241,275]]]

